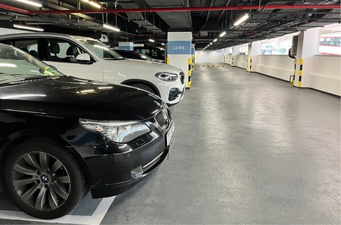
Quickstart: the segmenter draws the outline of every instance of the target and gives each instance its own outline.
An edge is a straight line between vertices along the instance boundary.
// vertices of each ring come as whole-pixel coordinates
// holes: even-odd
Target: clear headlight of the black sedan
[[[87,131],[102,133],[117,143],[126,143],[151,132],[146,124],[139,121],[92,121],[80,119],[80,125]]]

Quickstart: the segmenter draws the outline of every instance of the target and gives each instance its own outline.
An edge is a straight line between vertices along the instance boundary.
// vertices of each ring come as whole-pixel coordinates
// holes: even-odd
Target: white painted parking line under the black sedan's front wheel
[[[32,216],[28,216],[28,214],[25,214],[24,212],[0,210],[0,219],[35,221],[50,224],[99,225],[101,224],[105,214],[107,214],[112,202],[114,202],[115,197],[116,196],[102,199],[92,216],[66,215],[59,219],[36,219]]]

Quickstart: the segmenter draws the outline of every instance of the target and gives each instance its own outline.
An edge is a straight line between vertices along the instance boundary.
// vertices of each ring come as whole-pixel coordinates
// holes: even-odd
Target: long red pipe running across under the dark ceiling
[[[153,9],[82,9],[82,10],[47,10],[29,11],[30,14],[68,14],[68,13],[136,13],[136,12],[178,12],[178,11],[222,11],[250,9],[341,9],[340,5],[271,5],[271,6],[213,6],[213,7],[181,7]]]

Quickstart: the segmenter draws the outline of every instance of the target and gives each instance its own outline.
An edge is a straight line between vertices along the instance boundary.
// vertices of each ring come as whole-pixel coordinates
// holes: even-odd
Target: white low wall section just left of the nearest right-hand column
[[[257,70],[253,71],[271,77],[289,80],[289,76],[293,75],[294,65],[295,60],[288,57],[288,55],[259,55]],[[254,67],[253,64],[252,67]]]

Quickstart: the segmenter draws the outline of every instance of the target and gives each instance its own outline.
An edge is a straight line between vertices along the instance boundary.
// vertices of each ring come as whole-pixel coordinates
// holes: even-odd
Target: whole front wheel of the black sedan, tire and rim
[[[18,144],[4,163],[5,185],[16,205],[40,219],[72,211],[87,192],[85,175],[70,151],[35,138]]]

